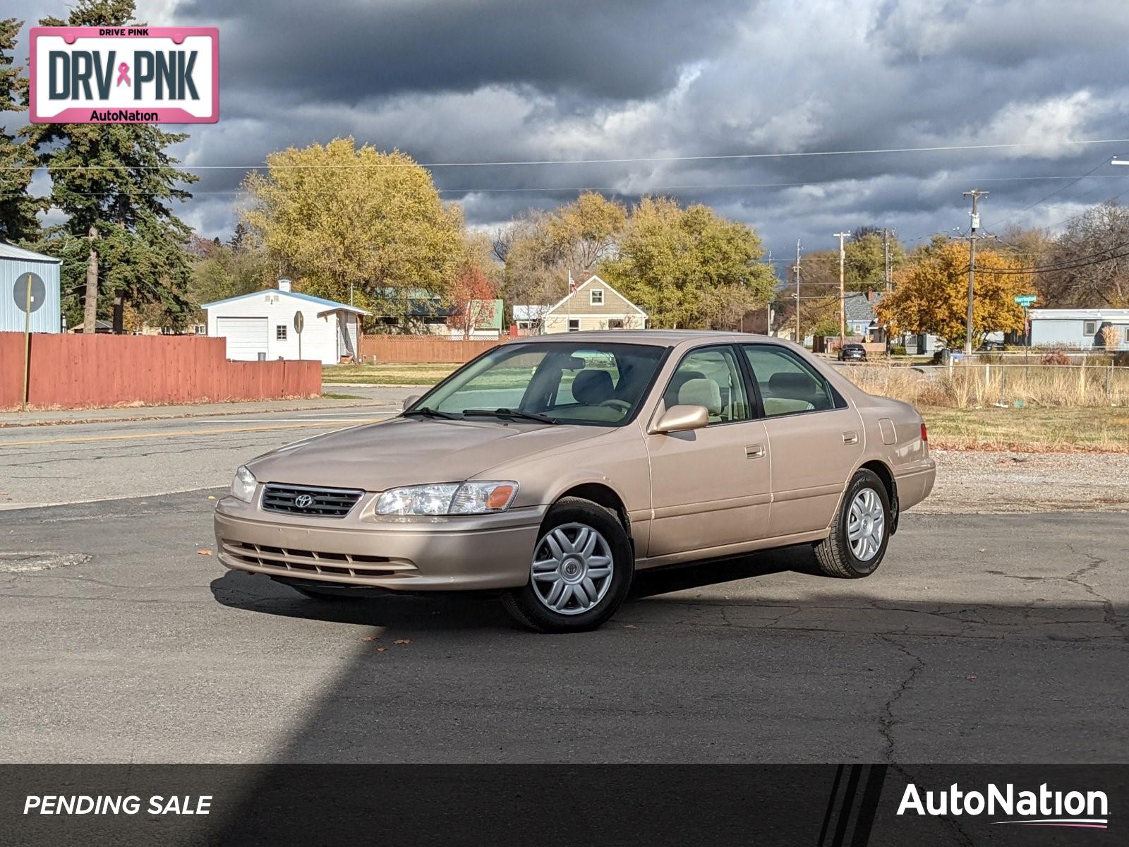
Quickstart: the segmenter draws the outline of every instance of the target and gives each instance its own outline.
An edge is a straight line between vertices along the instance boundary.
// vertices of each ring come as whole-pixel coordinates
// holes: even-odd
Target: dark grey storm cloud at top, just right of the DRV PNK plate
[[[484,85],[654,95],[680,64],[734,37],[749,0],[192,0],[177,17],[224,25],[226,78],[285,98],[356,103]],[[297,43],[296,43],[297,41]]]

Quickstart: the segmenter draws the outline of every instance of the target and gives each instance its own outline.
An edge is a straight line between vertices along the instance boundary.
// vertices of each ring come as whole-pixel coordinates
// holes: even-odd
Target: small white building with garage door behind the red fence
[[[255,291],[226,300],[204,303],[208,334],[227,339],[227,358],[317,359],[336,365],[342,356],[357,357],[359,318],[369,313],[290,290],[287,280],[277,289]],[[297,330],[301,315],[301,332]]]

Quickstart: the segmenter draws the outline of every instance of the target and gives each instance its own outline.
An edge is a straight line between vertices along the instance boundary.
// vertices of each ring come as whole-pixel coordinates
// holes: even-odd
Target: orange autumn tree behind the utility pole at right
[[[1013,254],[977,253],[972,334],[977,344],[989,332],[1023,330],[1016,295],[1030,294],[1031,273]],[[894,290],[875,312],[892,333],[931,333],[949,346],[964,343],[969,306],[969,247],[962,242],[935,243],[916,252],[894,273]]]

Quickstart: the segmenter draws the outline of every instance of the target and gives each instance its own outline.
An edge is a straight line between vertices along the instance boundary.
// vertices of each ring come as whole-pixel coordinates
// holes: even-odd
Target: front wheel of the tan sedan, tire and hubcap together
[[[539,632],[595,629],[619,609],[633,575],[631,542],[614,513],[566,497],[541,526],[530,582],[505,592],[502,605]]]

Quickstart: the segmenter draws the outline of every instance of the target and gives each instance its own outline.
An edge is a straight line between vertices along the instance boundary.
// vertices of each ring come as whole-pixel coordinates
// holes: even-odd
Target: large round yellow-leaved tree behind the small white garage
[[[266,157],[244,183],[243,220],[301,290],[401,316],[446,297],[463,251],[462,211],[423,167],[352,138]]]

